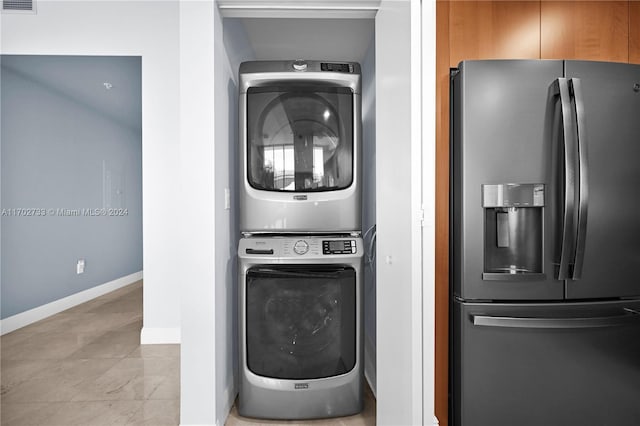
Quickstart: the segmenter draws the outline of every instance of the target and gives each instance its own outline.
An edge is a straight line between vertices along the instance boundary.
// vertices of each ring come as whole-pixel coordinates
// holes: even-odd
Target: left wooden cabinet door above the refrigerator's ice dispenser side
[[[449,3],[450,66],[464,59],[540,58],[537,1]]]

